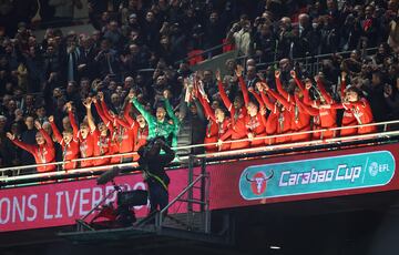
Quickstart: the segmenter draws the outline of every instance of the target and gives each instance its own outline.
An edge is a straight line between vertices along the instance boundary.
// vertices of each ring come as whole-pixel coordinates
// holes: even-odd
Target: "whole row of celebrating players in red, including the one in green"
[[[340,75],[339,98],[335,99],[331,91],[326,89],[323,75],[301,80],[291,70],[289,74],[294,88],[288,92],[287,85],[280,80],[280,70],[274,73],[275,89],[262,73],[257,74],[254,85],[248,86],[244,68],[236,65],[234,71],[236,88],[229,89],[223,82],[221,72],[215,72],[217,92],[211,99],[213,102],[205,88],[204,73],[195,72],[183,81],[185,94],[176,111],[170,103],[168,94],[164,93],[153,115],[139,101],[142,94],[134,89],[130,90],[120,110],[110,110],[104,92],[99,91],[82,100],[85,110],[80,124],[75,115],[79,105],[66,102],[64,111],[68,116],[61,132],[55,118],[50,115],[50,130],[44,130],[39,120],[34,121],[39,131],[35,133],[35,144],[21,142],[12,132],[8,132],[7,137],[31,153],[37,164],[44,164],[38,166],[38,172],[48,172],[137,161],[139,155],[132,152],[157,136],[163,136],[177,150],[184,128],[181,125],[185,118],[181,110],[184,106],[203,115],[204,125],[201,140],[185,145],[204,143],[207,153],[377,131],[374,125],[367,125],[374,123],[368,100],[358,88],[347,86],[346,72]],[[236,90],[234,99],[228,95],[233,94],[232,89]],[[335,130],[337,126],[349,128]],[[76,159],[80,160],[74,161]],[[62,164],[48,164],[57,160]]]

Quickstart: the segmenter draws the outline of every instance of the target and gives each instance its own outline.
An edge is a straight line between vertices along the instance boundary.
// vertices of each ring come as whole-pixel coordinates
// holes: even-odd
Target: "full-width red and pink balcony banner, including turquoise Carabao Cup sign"
[[[399,190],[398,160],[398,144],[387,144],[207,165],[209,208]],[[171,170],[168,175],[172,200],[186,187],[187,169]],[[146,188],[141,173],[117,176],[115,182],[125,190]],[[0,190],[0,232],[72,225],[112,191],[111,184],[96,185],[95,180]],[[194,198],[200,198],[195,191]],[[114,200],[115,195],[105,203]],[[186,208],[180,202],[168,213]],[[147,206],[135,210],[139,216],[147,213]]]

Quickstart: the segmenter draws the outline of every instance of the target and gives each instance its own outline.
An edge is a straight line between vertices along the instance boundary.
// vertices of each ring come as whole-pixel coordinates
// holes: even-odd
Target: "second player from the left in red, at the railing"
[[[68,114],[71,114],[71,112],[69,112]],[[69,118],[71,119],[71,115]],[[79,140],[75,139],[76,134],[73,133],[73,130],[66,129],[62,131],[61,135],[59,129],[54,123],[54,116],[51,115],[49,118],[49,121],[55,140],[62,147],[62,161],[64,162],[62,164],[62,169],[65,171],[76,169],[78,162],[68,162],[79,159]]]

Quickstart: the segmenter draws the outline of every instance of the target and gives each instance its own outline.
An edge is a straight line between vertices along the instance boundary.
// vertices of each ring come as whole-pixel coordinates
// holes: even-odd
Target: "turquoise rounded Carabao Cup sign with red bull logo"
[[[239,177],[244,200],[383,186],[395,174],[389,151],[254,165]]]

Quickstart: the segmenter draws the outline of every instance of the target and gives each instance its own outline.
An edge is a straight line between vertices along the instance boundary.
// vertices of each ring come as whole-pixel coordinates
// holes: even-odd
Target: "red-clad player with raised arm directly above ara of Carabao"
[[[296,78],[295,71],[291,71],[290,74],[293,78],[294,76]],[[290,131],[291,132],[310,131],[310,115],[306,111],[300,111],[301,109],[296,104],[294,96],[291,96],[287,91],[284,90],[279,76],[280,76],[280,72],[277,70],[275,72],[275,78],[276,78],[277,91],[279,94],[275,94],[274,96],[284,105],[286,111],[290,113],[290,118],[291,118]],[[297,85],[299,90],[296,90],[295,94],[298,94],[298,98],[300,98],[299,94],[301,94],[301,92],[304,91],[304,86],[301,83]],[[273,92],[274,91],[272,91],[270,93]],[[291,135],[291,141],[293,142],[308,141],[310,140],[310,136],[311,136],[310,133],[296,134],[296,135]]]

